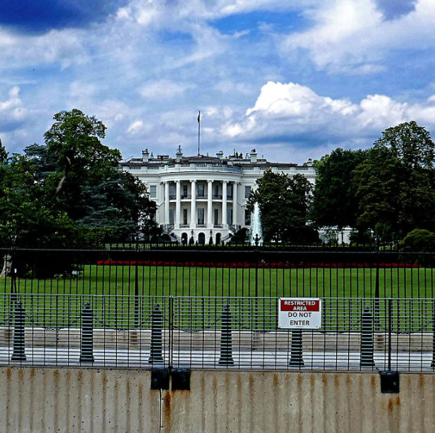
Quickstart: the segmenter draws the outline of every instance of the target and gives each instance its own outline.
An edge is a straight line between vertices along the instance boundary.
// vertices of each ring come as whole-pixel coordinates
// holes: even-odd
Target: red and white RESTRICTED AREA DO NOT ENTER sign
[[[322,326],[320,298],[279,298],[278,328],[319,329]]]

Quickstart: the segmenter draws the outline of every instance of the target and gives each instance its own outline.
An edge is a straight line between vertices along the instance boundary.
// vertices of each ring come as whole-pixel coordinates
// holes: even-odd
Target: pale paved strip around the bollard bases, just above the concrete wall
[[[77,347],[26,347],[26,361],[10,361],[13,349],[0,347],[0,365],[26,365],[47,367],[96,367],[96,368],[167,368],[168,353],[163,353],[164,361],[150,363],[150,351],[139,349],[94,349],[93,363],[80,363],[80,349]],[[303,366],[290,366],[290,353],[287,352],[237,352],[227,356],[233,363],[219,363],[219,352],[174,351],[173,368],[192,369],[236,369],[236,370],[387,370],[387,354],[374,354],[374,367],[361,367],[358,352],[303,352]],[[393,353],[391,370],[402,372],[434,372],[431,367],[432,353],[410,352]]]

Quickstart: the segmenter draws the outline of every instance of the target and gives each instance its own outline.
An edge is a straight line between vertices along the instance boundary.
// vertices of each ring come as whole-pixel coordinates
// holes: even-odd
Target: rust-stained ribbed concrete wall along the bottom
[[[435,432],[435,375],[193,371],[151,391],[149,370],[0,369],[0,432]]]

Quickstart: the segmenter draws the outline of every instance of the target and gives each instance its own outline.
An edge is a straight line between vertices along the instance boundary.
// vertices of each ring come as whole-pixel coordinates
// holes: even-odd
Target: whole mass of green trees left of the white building
[[[0,145],[0,242],[76,246],[157,237],[156,205],[145,185],[119,170],[120,152],[100,142],[104,125],[81,111],[61,111],[25,155]]]

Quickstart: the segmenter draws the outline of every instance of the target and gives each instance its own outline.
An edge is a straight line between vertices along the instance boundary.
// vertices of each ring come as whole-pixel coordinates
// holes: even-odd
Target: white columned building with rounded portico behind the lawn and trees
[[[187,243],[193,237],[198,244],[226,242],[241,227],[251,226],[246,201],[255,188],[255,180],[270,168],[277,173],[301,173],[315,182],[311,159],[303,165],[269,162],[251,153],[224,157],[198,155],[184,157],[179,147],[175,158],[153,157],[148,149],[142,158],[120,164],[122,170],[136,175],[157,203],[157,222],[172,239]]]

